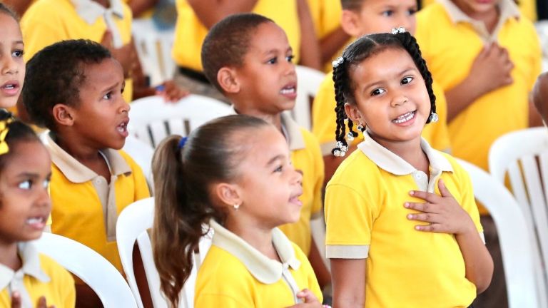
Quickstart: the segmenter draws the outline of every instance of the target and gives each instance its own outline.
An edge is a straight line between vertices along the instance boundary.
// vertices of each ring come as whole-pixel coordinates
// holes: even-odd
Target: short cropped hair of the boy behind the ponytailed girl
[[[213,25],[205,36],[201,53],[203,73],[221,93],[224,91],[217,81],[218,71],[226,66],[240,67],[248,52],[250,36],[267,22],[274,23],[259,14],[233,14]]]

